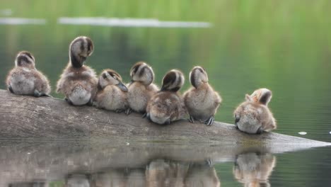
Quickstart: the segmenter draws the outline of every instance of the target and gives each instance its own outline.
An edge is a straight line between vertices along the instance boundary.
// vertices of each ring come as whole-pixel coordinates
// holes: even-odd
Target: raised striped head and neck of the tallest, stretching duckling
[[[73,67],[82,67],[86,58],[93,53],[91,38],[79,36],[73,40],[69,47],[70,62]]]

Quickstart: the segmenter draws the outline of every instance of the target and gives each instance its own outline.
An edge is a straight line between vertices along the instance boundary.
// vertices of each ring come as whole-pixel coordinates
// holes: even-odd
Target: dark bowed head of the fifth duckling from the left
[[[185,78],[177,69],[170,70],[162,79],[161,91],[178,91],[184,84]]]

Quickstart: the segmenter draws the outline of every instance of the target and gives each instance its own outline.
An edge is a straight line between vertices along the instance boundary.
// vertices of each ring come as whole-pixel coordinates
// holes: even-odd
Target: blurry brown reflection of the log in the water
[[[206,144],[175,144],[172,143],[141,143],[119,142],[81,142],[81,141],[45,141],[45,142],[15,142],[0,141],[0,186],[25,186],[35,183],[48,183],[52,181],[62,181],[66,179],[74,180],[77,174],[88,174],[86,177],[91,183],[98,186],[103,183],[101,178],[108,177],[108,171],[117,179],[125,178],[133,183],[141,183],[136,179],[141,179],[145,166],[153,164],[151,160],[162,158],[182,163],[178,166],[179,171],[185,170],[187,165],[183,163],[201,163],[207,159],[217,162],[233,162],[236,155],[242,152],[279,153],[295,151],[304,147],[284,147],[283,145],[272,147],[249,147],[248,145],[206,145]],[[174,162],[171,162],[174,163]],[[187,171],[185,181],[188,183],[190,177],[199,170],[199,165],[191,164],[191,171]],[[176,167],[170,164],[170,168]],[[126,169],[127,168],[127,169]],[[207,169],[207,168],[206,168]],[[203,170],[203,169],[200,169]],[[208,170],[208,169],[207,169]],[[183,171],[184,172],[184,171]],[[209,171],[211,179],[214,180],[213,172]],[[119,175],[120,174],[120,175]],[[97,178],[98,177],[98,178]],[[198,178],[196,178],[198,179]],[[70,180],[69,180],[70,181]],[[67,180],[67,183],[69,183]],[[106,183],[107,181],[105,181]],[[71,182],[70,182],[71,183]],[[99,185],[102,186],[102,185]]]

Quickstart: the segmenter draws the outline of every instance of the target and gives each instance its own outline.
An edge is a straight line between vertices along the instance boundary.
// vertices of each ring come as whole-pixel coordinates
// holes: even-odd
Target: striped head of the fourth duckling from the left
[[[145,62],[137,62],[130,70],[132,81],[141,81],[145,85],[149,85],[154,80],[153,69]]]

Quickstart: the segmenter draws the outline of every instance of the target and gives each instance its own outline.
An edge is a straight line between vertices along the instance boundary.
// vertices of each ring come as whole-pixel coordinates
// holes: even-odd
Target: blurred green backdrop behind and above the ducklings
[[[223,104],[216,120],[233,123],[232,112],[246,93],[266,87],[277,132],[305,131],[331,140],[331,1],[19,1],[2,0],[1,18],[42,18],[45,25],[0,25],[0,79],[20,50],[33,52],[37,69],[47,74],[52,94],[68,62],[68,47],[78,35],[95,44],[87,64],[98,73],[117,70],[129,81],[135,62],[151,64],[160,84],[169,69],[188,74],[202,65]],[[4,10],[10,10],[6,14]],[[209,28],[139,28],[59,24],[60,17],[156,18],[202,21]],[[4,82],[4,81],[3,81]],[[5,84],[1,84],[5,89]]]

